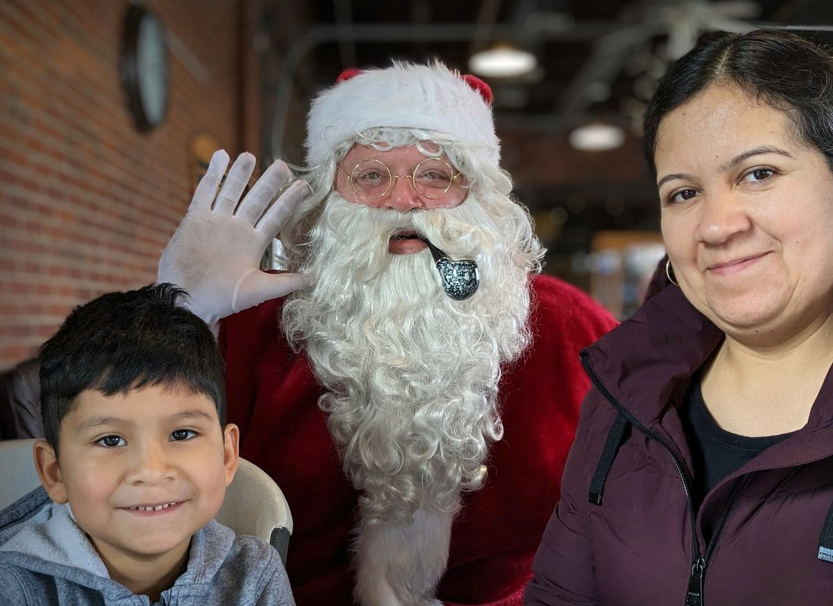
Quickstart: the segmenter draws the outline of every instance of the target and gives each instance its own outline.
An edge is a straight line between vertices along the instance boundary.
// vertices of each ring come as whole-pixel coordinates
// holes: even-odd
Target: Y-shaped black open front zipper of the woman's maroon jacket
[[[666,445],[665,441],[661,439],[660,436],[652,433],[648,430],[647,427],[641,424],[641,422],[636,419],[634,415],[631,414],[629,410],[627,410],[619,400],[616,400],[615,397],[607,390],[605,385],[601,383],[601,380],[596,376],[596,372],[591,368],[590,356],[586,354],[586,352],[582,351],[580,354],[581,357],[581,365],[584,367],[587,376],[590,377],[591,383],[593,386],[598,390],[598,392],[604,397],[605,400],[610,403],[613,408],[616,409],[621,415],[628,420],[628,422],[636,427],[643,435],[646,436],[649,440],[653,440],[659,445],[662,450],[665,450],[668,456],[671,457],[671,461],[674,463],[676,467],[677,474],[680,475],[680,479],[682,481],[682,489],[686,493],[686,505],[688,507],[688,519],[691,521],[691,576],[688,579],[688,591],[686,591],[686,601],[683,603],[685,606],[704,606],[703,601],[703,585],[706,582],[706,565],[709,563],[709,557],[711,556],[712,552],[714,551],[717,540],[720,538],[721,532],[723,530],[723,525],[726,524],[726,519],[729,518],[729,514],[731,512],[732,506],[735,504],[735,500],[737,499],[737,495],[741,492],[741,488],[743,484],[746,484],[746,479],[749,477],[749,474],[743,474],[740,479],[738,479],[735,485],[732,487],[731,494],[729,494],[729,499],[726,500],[726,504],[723,506],[723,510],[721,511],[721,517],[717,520],[717,524],[715,526],[714,532],[711,533],[711,539],[709,540],[709,544],[706,546],[706,554],[700,554],[700,541],[697,539],[697,525],[696,525],[696,518],[694,514],[694,503],[691,500],[691,491],[688,488],[688,481],[686,480],[686,474],[682,470],[682,465],[680,464],[679,459],[676,458],[676,454],[671,451],[671,448]]]

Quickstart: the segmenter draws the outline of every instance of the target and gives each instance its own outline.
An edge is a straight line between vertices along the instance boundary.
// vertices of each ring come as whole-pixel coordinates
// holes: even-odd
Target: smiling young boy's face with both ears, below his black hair
[[[237,426],[221,431],[213,401],[187,388],[82,391],[59,435],[57,462],[36,446],[43,484],[116,566],[184,558],[237,470]]]

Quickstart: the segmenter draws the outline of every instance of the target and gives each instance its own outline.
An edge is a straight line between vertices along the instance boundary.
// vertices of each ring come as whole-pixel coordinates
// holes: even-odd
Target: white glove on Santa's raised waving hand
[[[157,281],[185,289],[191,296],[187,306],[215,334],[221,318],[310,284],[308,276],[259,269],[263,251],[307,195],[307,184],[295,181],[269,206],[291,177],[287,165],[276,160],[238,205],[255,156],[242,153],[217,194],[226,166],[228,154],[215,151],[185,218],[162,252],[157,276]]]

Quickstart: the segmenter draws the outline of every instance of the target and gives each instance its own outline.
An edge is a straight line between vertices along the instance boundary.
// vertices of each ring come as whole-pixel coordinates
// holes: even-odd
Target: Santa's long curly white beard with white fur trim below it
[[[505,200],[505,199],[504,199]],[[357,598],[365,606],[438,604],[461,490],[480,487],[488,446],[503,432],[501,363],[526,348],[532,253],[514,209],[407,214],[328,198],[302,264],[314,286],[290,297],[283,327],[306,345],[327,389],[319,405],[357,490]],[[392,255],[416,229],[453,260],[475,259],[481,286],[466,301],[441,289],[429,251]],[[521,250],[519,250],[521,248]]]

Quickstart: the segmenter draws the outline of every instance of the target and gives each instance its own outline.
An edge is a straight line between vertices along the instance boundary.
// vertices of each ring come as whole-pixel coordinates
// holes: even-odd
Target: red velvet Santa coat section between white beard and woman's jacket
[[[503,439],[491,447],[485,486],[466,495],[452,527],[439,593],[446,604],[520,606],[590,388],[579,351],[616,325],[555,278],[536,276],[532,290],[532,343],[499,386]]]

